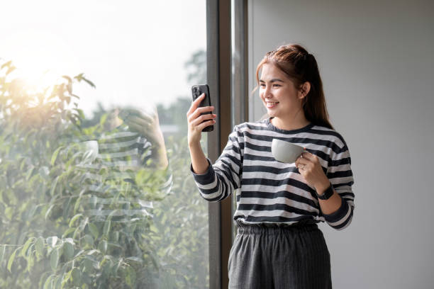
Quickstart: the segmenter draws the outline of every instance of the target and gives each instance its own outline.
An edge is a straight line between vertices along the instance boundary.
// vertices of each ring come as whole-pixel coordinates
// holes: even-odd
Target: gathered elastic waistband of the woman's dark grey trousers
[[[255,224],[247,225],[237,222],[238,234],[282,234],[282,233],[299,233],[311,232],[318,230],[315,223],[294,224],[294,225],[277,225],[277,224]]]

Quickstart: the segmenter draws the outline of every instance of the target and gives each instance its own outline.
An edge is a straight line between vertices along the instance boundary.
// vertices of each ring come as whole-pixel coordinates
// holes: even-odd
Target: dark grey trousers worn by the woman
[[[332,288],[330,254],[318,225],[238,226],[229,255],[229,288]]]

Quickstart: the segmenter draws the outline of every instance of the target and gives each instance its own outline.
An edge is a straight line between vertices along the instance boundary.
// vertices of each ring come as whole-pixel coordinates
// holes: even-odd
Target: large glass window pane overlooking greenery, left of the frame
[[[208,288],[205,4],[3,5],[0,288]]]

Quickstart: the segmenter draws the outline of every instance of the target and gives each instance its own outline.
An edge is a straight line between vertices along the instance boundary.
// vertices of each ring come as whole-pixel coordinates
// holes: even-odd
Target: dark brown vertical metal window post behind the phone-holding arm
[[[215,162],[230,134],[230,0],[206,1],[207,81],[218,115],[208,135],[208,157]],[[232,246],[232,203],[209,203],[210,288],[228,287],[228,255]]]

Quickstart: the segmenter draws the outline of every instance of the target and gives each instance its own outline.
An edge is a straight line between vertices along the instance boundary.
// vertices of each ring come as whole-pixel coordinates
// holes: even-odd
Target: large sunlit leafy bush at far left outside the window
[[[104,118],[81,128],[72,85],[91,82],[80,74],[32,92],[19,79],[9,79],[11,62],[1,69],[0,287],[144,288],[155,283],[151,218],[119,215],[116,203],[108,205],[111,213],[103,220],[87,211],[97,209],[95,198],[123,198],[131,207],[138,205],[128,201],[135,198],[161,200],[158,186],[165,172],[127,171],[129,179],[109,180],[101,193],[89,193],[87,171],[77,169],[89,152],[79,141],[98,137]],[[107,170],[101,166],[99,176],[104,179]]]

